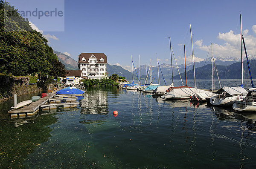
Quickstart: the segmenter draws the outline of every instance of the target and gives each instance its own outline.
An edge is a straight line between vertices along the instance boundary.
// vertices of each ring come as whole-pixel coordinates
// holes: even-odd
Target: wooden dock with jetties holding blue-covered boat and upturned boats
[[[51,93],[47,93],[47,97],[40,98],[38,101],[32,102],[28,106],[24,106],[20,109],[11,109],[8,111],[11,114],[12,118],[34,116],[40,108],[43,110],[48,109],[56,109],[57,106],[67,107],[76,107],[78,104],[76,101],[77,97],[80,95],[56,95],[57,90],[52,91]],[[60,103],[61,100],[65,100],[70,103]],[[73,102],[73,103],[72,103]],[[50,103],[50,104],[47,104]]]

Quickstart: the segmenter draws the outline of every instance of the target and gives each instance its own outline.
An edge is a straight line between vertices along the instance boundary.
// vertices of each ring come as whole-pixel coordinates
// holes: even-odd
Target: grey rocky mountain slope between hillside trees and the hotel
[[[57,52],[55,50],[53,50],[53,53],[55,53],[58,56],[58,60],[65,65],[65,69],[78,70],[78,62],[76,60],[64,53]]]

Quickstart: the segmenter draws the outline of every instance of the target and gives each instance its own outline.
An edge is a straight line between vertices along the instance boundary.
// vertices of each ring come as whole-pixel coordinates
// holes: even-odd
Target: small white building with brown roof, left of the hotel
[[[82,76],[81,70],[68,70],[64,76],[66,77],[67,85],[78,85],[80,84],[81,80],[88,79],[87,77]]]

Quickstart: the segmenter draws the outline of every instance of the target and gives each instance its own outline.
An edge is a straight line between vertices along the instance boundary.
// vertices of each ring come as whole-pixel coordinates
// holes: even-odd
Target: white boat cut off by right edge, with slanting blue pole
[[[243,42],[244,42],[244,37],[243,37]],[[249,92],[243,98],[242,101],[236,100],[234,102],[233,109],[237,112],[256,112],[256,88],[254,88],[254,85],[253,85],[253,79],[250,72],[250,66],[249,66],[249,61],[248,61],[247,52],[245,48],[245,43],[244,43],[244,51],[246,55],[247,66],[249,69],[250,80],[253,88],[249,89]]]

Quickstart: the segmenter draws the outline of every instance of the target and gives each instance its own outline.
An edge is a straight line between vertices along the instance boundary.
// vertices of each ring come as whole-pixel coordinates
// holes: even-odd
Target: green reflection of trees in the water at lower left
[[[12,120],[0,123],[0,168],[25,168],[23,161],[51,137],[49,125],[56,123],[54,114],[35,119]],[[14,127],[14,125],[16,127]],[[48,126],[48,127],[47,127]]]

